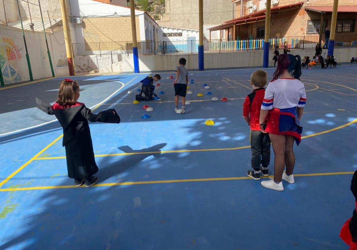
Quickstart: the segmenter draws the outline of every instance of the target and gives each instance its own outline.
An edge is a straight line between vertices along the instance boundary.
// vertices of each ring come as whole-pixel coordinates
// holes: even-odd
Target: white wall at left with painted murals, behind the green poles
[[[33,78],[51,77],[44,34],[25,30],[25,37]],[[47,41],[55,75],[68,74],[63,31],[58,31],[53,35],[47,33]],[[1,60],[4,61],[1,70],[5,72],[3,76],[6,84],[30,80],[26,50],[20,29],[0,25]]]

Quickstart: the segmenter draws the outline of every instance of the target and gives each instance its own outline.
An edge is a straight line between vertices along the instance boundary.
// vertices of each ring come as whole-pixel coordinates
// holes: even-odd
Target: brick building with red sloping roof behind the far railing
[[[220,30],[222,39],[264,38],[266,0],[232,0],[232,4],[236,18],[209,30]],[[271,0],[270,37],[319,36],[331,27],[332,5],[333,0]],[[336,35],[356,35],[356,18],[357,5],[340,0]]]

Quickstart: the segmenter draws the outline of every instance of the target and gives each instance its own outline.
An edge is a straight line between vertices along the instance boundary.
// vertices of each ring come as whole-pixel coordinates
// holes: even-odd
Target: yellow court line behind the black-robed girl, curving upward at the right
[[[321,131],[311,135],[302,136],[301,139],[306,139],[312,136],[326,134],[332,131],[336,131],[338,129],[342,129],[343,127],[350,126],[353,123],[356,123],[357,119],[350,121],[341,126],[335,127],[333,129]],[[182,152],[206,152],[206,151],[223,151],[223,150],[238,150],[238,149],[248,149],[250,146],[241,146],[241,147],[227,147],[227,148],[217,148],[217,149],[191,149],[191,150],[162,150],[162,151],[151,151],[151,152],[132,152],[132,153],[118,153],[118,154],[101,154],[95,155],[95,157],[106,157],[106,156],[119,156],[119,155],[144,155],[144,154],[167,154],[167,153],[182,153]],[[55,160],[55,159],[66,159],[66,156],[54,156],[54,157],[38,157],[35,160]]]

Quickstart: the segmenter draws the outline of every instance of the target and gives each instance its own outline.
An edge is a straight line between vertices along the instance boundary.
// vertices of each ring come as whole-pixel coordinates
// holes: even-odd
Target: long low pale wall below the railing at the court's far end
[[[270,66],[273,65],[271,58],[273,57],[272,50],[270,51],[269,59]],[[335,49],[335,58],[338,62],[349,62],[351,55],[357,55],[357,48]],[[314,55],[315,50],[291,50],[291,54]],[[139,56],[140,71],[159,71],[159,70],[175,70],[178,60],[185,57],[187,60],[187,69],[198,68],[197,54],[176,54],[176,55],[149,55]],[[263,51],[250,52],[225,52],[225,53],[206,53],[205,54],[205,69],[230,68],[230,67],[257,67],[262,66]],[[100,69],[101,72],[131,72],[134,71],[134,61],[131,58]]]

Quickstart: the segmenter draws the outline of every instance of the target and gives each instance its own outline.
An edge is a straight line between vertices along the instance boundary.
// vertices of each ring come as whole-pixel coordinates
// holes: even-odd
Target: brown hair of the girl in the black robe
[[[76,104],[76,93],[79,90],[79,85],[76,81],[66,79],[61,82],[58,91],[57,103],[61,106],[71,106]]]

